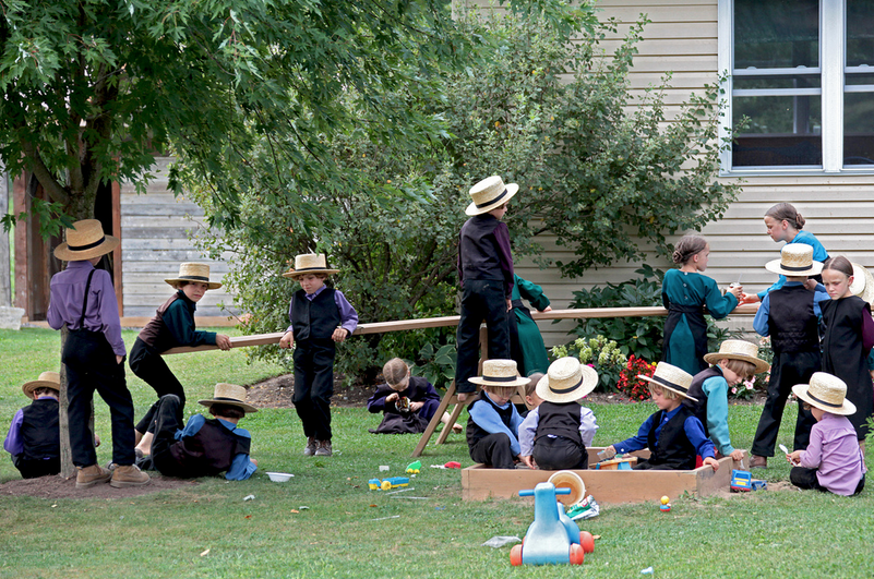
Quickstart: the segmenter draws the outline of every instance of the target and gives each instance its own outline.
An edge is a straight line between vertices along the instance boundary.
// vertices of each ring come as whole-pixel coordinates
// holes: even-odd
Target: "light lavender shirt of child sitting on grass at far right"
[[[800,467],[816,469],[819,484],[836,495],[851,496],[865,473],[855,429],[847,417],[826,412],[811,429],[811,442]]]

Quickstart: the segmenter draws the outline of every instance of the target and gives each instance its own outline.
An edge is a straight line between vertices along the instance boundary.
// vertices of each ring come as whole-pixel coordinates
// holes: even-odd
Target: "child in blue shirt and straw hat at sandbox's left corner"
[[[518,386],[528,384],[528,378],[518,375],[513,360],[486,360],[482,376],[474,376],[470,382],[482,386],[480,397],[468,409],[470,458],[496,469],[515,468],[519,456],[522,417],[510,399]]]

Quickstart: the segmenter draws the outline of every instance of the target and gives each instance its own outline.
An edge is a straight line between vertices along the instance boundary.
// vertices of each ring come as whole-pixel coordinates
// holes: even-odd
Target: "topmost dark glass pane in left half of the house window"
[[[818,0],[734,0],[735,69],[818,65]]]

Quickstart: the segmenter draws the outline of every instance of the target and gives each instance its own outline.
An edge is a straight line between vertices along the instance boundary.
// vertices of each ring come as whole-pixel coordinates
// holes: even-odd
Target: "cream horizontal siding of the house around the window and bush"
[[[615,16],[623,24],[620,37],[638,14],[646,13],[651,22],[645,40],[638,45],[630,80],[635,94],[648,85],[657,85],[661,76],[672,72],[666,101],[668,118],[675,114],[677,105],[691,93],[701,92],[705,84],[715,84],[717,68],[717,0],[603,0],[600,19]],[[608,40],[606,47],[618,46]],[[732,178],[722,178],[729,181]],[[874,267],[874,176],[767,176],[745,177],[743,192],[731,205],[723,219],[709,224],[702,232],[710,242],[707,275],[720,286],[741,278],[746,291],[759,291],[775,279],[765,270],[769,260],[779,257],[782,244],[765,233],[762,220],[775,203],[792,203],[806,219],[804,229],[814,233],[829,254],[843,254],[866,267]],[[673,238],[673,241],[679,237]],[[568,260],[570,252],[543,240],[547,256]],[[665,260],[650,260],[654,267],[671,266]],[[543,286],[554,309],[567,307],[573,292],[607,281],[619,282],[636,277],[639,264],[621,264],[592,269],[582,278],[561,278],[558,269],[540,270],[530,263],[520,263],[517,273]],[[573,323],[540,322],[548,346],[567,341],[566,331]],[[732,327],[747,328],[750,318],[734,318]]]

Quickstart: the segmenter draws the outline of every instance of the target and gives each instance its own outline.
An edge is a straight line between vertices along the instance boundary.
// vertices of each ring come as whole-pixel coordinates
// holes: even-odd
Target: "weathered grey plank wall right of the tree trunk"
[[[222,281],[224,262],[209,260],[194,248],[191,236],[205,230],[203,209],[167,188],[170,158],[156,159],[147,194],[137,195],[131,183],[121,184],[121,267],[124,317],[155,314],[172,295],[165,279],[179,274],[182,262],[209,264],[209,279]],[[197,304],[197,316],[228,316],[217,304],[232,304],[224,288],[207,291]]]

